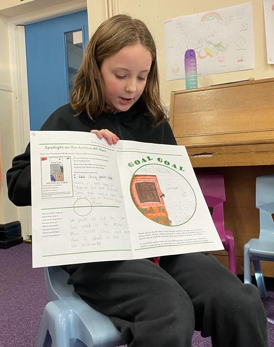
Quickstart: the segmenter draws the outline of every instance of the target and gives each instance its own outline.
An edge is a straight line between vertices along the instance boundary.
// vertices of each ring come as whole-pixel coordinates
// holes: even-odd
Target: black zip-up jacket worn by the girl
[[[128,111],[104,112],[92,121],[87,113],[75,116],[69,104],[61,106],[49,116],[41,130],[87,131],[108,129],[120,140],[176,145],[168,122],[153,126],[155,120],[147,116],[145,108],[137,101]],[[17,155],[7,171],[8,197],[17,206],[31,205],[30,145]]]

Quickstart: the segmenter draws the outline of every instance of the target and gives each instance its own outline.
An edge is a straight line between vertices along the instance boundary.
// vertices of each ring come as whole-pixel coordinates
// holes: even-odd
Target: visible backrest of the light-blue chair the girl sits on
[[[58,300],[61,297],[70,297],[73,286],[67,284],[68,273],[60,266],[49,266],[44,268],[46,296],[49,301]]]

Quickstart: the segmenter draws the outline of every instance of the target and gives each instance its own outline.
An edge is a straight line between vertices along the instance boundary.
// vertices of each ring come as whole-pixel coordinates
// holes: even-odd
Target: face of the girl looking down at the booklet
[[[139,99],[151,62],[150,51],[140,44],[126,46],[103,60],[100,73],[106,103],[112,111],[127,111]]]

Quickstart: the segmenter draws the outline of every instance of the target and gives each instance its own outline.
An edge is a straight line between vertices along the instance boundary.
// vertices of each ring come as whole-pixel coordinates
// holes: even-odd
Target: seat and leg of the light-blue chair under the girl
[[[50,336],[50,338],[49,338]],[[110,318],[93,310],[82,299],[50,301],[43,312],[36,347],[113,347],[124,344]],[[78,345],[77,345],[78,346]]]

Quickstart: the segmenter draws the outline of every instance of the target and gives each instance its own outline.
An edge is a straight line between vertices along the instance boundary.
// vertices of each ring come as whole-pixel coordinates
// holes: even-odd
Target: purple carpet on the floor
[[[34,347],[47,303],[43,269],[32,269],[27,243],[0,249],[0,267],[0,347]],[[274,279],[266,279],[266,287],[269,297],[263,303],[274,347]],[[192,346],[211,347],[210,338],[195,332]]]

